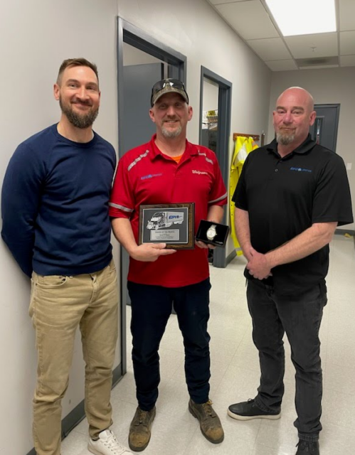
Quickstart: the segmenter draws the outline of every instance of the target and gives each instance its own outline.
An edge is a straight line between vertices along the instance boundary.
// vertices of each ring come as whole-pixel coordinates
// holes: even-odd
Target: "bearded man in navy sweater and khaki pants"
[[[108,203],[116,155],[92,131],[100,105],[96,65],[65,60],[54,96],[60,122],[18,146],[2,191],[1,234],[32,283],[29,314],[38,350],[34,446],[38,455],[60,454],[60,403],[80,326],[88,449],[129,455],[109,429],[118,294]]]

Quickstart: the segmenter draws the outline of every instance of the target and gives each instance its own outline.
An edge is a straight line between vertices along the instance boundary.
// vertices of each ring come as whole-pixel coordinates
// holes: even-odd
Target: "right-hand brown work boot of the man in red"
[[[189,401],[189,411],[200,422],[200,428],[203,436],[213,444],[219,444],[223,441],[224,433],[216,412],[214,412],[211,400],[202,405],[197,405],[192,400]]]

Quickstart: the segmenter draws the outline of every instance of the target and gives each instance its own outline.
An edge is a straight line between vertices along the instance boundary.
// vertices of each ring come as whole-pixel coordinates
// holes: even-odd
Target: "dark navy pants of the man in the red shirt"
[[[196,403],[208,401],[210,353],[207,332],[210,280],[168,288],[128,282],[132,306],[132,360],[139,407],[149,411],[158,397],[159,343],[172,304],[184,337],[185,374],[189,394]]]

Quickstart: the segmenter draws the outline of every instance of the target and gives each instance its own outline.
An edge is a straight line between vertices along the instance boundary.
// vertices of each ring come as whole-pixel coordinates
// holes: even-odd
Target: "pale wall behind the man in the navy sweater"
[[[52,87],[65,58],[85,57],[97,64],[102,101],[95,130],[117,149],[116,16],[116,0],[1,1],[1,182],[16,146],[58,121]],[[24,455],[33,446],[31,400],[36,378],[30,287],[3,242],[0,277],[0,454]],[[78,340],[75,350],[64,414],[83,400]],[[119,362],[117,357],[115,365]]]

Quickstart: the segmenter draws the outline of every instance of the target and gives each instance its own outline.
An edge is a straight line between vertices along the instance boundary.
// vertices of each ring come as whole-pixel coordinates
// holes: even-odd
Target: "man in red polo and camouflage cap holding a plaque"
[[[189,411],[208,441],[223,441],[221,421],[208,398],[210,354],[208,246],[167,250],[164,243],[138,244],[141,204],[195,203],[195,232],[201,219],[220,223],[227,202],[213,151],[186,140],[192,107],[184,84],[161,80],[152,89],[149,116],[157,134],[120,159],[110,200],[117,240],[129,253],[127,287],[132,305],[132,359],[138,407],[129,428],[129,446],[149,444],[159,385],[159,343],[174,309],[184,337]]]

